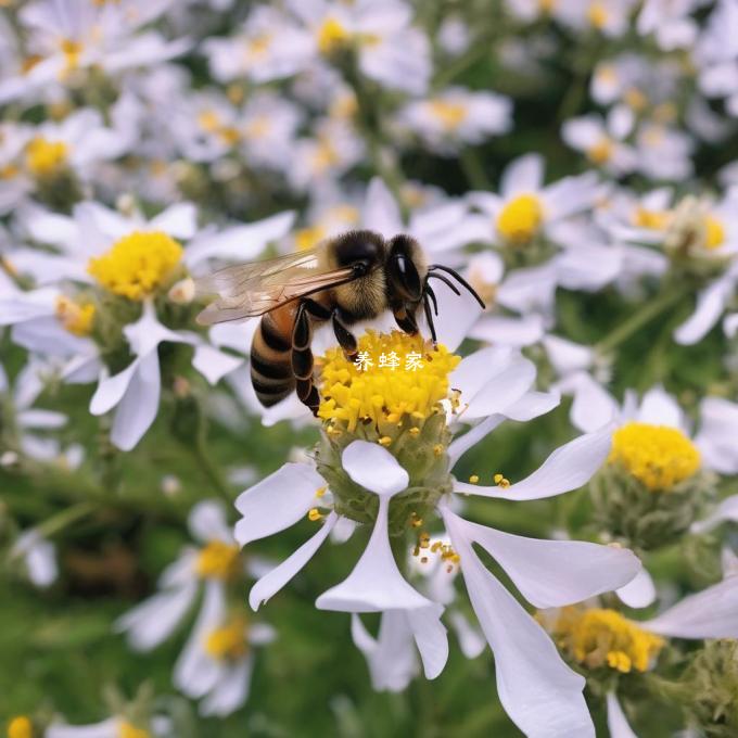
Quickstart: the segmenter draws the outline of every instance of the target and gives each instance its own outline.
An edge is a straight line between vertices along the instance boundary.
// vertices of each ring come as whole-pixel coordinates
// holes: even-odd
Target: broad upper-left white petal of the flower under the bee
[[[308,463],[285,463],[239,495],[236,539],[245,546],[294,525],[315,505],[315,493],[326,482]]]

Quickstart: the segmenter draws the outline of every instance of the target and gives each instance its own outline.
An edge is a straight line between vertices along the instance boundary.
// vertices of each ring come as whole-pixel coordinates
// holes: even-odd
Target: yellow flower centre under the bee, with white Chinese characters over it
[[[420,334],[369,330],[359,339],[355,361],[338,347],[326,353],[318,417],[345,423],[349,432],[364,419],[377,425],[399,423],[404,416],[424,420],[448,397],[448,374],[460,360]]]

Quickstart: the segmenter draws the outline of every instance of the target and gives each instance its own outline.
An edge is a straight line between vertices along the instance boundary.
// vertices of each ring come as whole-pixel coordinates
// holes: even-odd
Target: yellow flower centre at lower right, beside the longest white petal
[[[664,641],[644,631],[614,610],[561,610],[554,626],[559,648],[589,667],[607,666],[623,674],[645,672],[659,654]]]

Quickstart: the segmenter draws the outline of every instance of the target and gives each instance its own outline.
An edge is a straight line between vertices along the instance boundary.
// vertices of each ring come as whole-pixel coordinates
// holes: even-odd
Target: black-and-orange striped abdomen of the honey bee
[[[291,341],[269,314],[259,322],[251,345],[251,382],[264,407],[276,405],[295,389]]]

